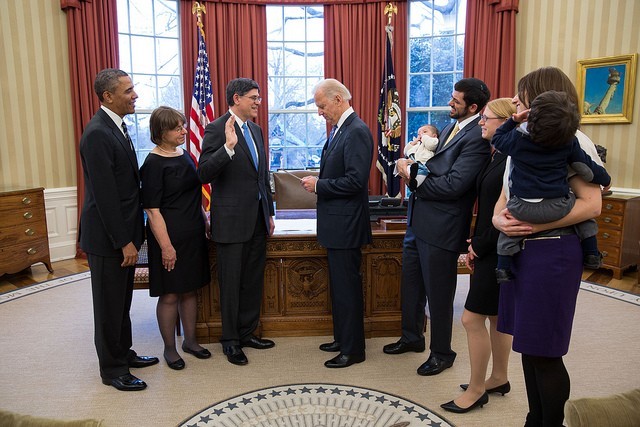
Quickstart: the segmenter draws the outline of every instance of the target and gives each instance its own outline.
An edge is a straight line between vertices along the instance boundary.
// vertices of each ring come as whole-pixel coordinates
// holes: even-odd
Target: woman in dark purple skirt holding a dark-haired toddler
[[[568,95],[573,108],[578,96],[569,78],[558,68],[544,67],[518,82],[514,103],[518,112],[529,108],[541,93],[555,90]],[[582,132],[576,137],[583,150],[598,164],[595,146]],[[509,178],[507,163],[505,182]],[[495,207],[494,226],[509,236],[525,237],[522,250],[513,257],[514,279],[500,292],[498,330],[513,335],[513,349],[522,354],[529,413],[525,426],[561,426],[570,380],[562,356],[569,348],[583,254],[575,225],[600,214],[600,186],[569,175],[576,202],[565,217],[547,224],[528,224],[507,209],[508,185]]]

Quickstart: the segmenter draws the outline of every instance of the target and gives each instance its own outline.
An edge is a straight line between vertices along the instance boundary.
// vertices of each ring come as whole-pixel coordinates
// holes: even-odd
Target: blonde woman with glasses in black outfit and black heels
[[[490,141],[498,129],[516,108],[511,98],[490,101],[478,123],[482,138]],[[511,336],[498,332],[498,301],[500,287],[495,268],[498,259],[496,244],[499,232],[492,223],[493,207],[500,197],[506,156],[492,150],[491,157],[478,174],[478,213],[473,237],[469,242],[467,267],[473,271],[467,301],[462,313],[462,324],[467,331],[471,377],[469,384],[461,384],[464,393],[445,403],[447,411],[464,413],[488,402],[488,393],[503,396],[511,389],[507,379]],[[489,319],[489,330],[486,320]],[[491,375],[485,379],[489,358],[493,357]]]

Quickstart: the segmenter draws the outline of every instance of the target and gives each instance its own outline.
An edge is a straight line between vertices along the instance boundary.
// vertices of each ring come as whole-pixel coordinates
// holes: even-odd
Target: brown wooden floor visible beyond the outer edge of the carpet
[[[0,276],[0,293],[88,270],[89,265],[86,259],[69,259],[54,262],[53,273],[49,273],[43,264],[36,264],[19,273]],[[611,271],[605,269],[585,270],[582,279],[640,295],[637,270],[626,272],[622,279],[614,279]]]

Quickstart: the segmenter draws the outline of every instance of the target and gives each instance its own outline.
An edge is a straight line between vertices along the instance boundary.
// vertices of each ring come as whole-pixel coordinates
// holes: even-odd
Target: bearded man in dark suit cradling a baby
[[[430,173],[409,199],[402,252],[402,337],[383,350],[387,354],[424,351],[428,302],[431,354],[418,368],[420,375],[437,375],[451,367],[456,357],[451,333],[457,261],[470,233],[476,177],[490,152],[478,126],[489,97],[481,80],[468,78],[455,84],[449,116],[456,121],[441,132],[436,153],[426,162]],[[411,162],[397,162],[407,182]]]

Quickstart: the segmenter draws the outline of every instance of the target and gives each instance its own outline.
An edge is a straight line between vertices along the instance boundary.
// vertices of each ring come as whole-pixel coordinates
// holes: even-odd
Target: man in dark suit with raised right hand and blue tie
[[[229,111],[204,132],[198,175],[211,183],[211,240],[216,243],[222,337],[229,362],[246,365],[242,347],[273,341],[253,334],[260,320],[267,236],[273,234],[273,199],[262,129],[250,119],[262,101],[258,83],[232,80]]]

